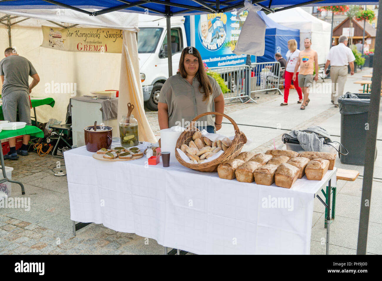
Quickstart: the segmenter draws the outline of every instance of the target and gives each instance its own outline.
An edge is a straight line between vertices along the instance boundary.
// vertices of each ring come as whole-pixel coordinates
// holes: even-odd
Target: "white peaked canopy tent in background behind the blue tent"
[[[317,52],[318,63],[325,63],[329,54],[330,43],[330,23],[312,16],[302,8],[293,8],[279,11],[268,15],[273,21],[300,30],[300,50],[304,49],[304,39],[312,40],[312,49]]]

